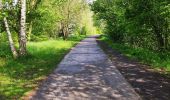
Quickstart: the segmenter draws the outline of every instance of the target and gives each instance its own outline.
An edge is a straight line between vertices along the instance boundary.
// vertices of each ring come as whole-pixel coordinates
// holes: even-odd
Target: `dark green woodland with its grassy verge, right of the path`
[[[169,0],[96,0],[91,7],[112,47],[169,69]]]

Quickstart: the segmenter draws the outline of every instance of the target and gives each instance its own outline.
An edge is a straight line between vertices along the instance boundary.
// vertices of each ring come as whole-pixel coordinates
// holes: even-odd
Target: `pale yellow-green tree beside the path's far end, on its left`
[[[84,0],[66,0],[59,7],[62,18],[60,20],[60,36],[66,39],[76,29],[81,21],[82,13],[87,9]]]

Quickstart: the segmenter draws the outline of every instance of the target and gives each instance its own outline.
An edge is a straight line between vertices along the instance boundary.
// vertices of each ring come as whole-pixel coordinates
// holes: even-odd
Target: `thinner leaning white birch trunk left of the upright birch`
[[[6,32],[7,32],[7,35],[8,35],[8,41],[9,41],[9,45],[10,45],[10,48],[11,48],[11,52],[13,54],[13,57],[16,59],[18,57],[18,53],[17,53],[16,48],[14,46],[14,42],[12,40],[12,35],[11,35],[11,32],[10,32],[8,21],[7,21],[6,17],[4,17],[4,24],[5,24]]]

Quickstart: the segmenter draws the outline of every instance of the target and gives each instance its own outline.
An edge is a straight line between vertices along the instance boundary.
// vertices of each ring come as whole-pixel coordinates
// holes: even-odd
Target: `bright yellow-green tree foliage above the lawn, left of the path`
[[[0,22],[3,23],[3,18],[7,17],[13,38],[17,40],[20,4],[14,6],[13,0],[2,1]],[[67,38],[70,34],[80,34],[83,27],[86,27],[87,34],[95,32],[92,13],[85,0],[27,0],[26,16],[28,41],[64,37],[63,34],[66,34]],[[1,24],[0,34],[5,31]],[[1,40],[2,38],[0,36]]]

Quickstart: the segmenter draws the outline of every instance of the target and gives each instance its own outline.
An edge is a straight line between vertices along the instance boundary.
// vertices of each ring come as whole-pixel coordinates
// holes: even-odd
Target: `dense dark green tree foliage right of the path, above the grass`
[[[169,0],[96,0],[95,19],[114,42],[154,51],[170,49]]]

